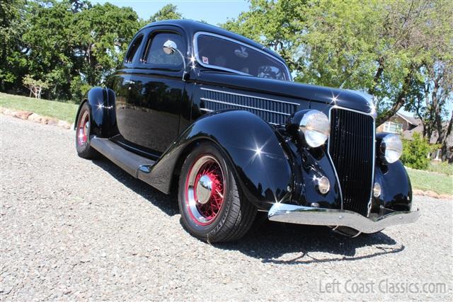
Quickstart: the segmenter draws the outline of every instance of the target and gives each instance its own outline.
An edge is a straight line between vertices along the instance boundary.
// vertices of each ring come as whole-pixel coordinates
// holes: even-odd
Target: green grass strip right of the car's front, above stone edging
[[[406,168],[411,178],[412,188],[433,191],[437,194],[453,195],[453,176],[442,173]]]

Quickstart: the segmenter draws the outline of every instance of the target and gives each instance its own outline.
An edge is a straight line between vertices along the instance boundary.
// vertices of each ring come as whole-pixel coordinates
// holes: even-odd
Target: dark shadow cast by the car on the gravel
[[[168,216],[179,214],[176,193],[164,194],[142,180],[133,178],[106,158],[95,160],[93,163]],[[222,250],[237,250],[262,262],[286,265],[354,261],[401,252],[405,248],[382,232],[348,238],[333,233],[325,226],[302,226],[273,221],[256,223],[239,241],[212,245]],[[363,252],[356,255],[357,249],[363,247],[371,248],[365,250],[365,255],[362,255]],[[324,252],[328,257],[323,255],[316,258],[311,255],[314,252]],[[294,255],[289,257],[289,254]]]

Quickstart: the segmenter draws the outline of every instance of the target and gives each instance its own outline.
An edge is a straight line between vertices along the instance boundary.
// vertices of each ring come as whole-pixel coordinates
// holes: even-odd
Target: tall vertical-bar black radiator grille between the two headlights
[[[371,116],[333,108],[328,151],[343,195],[343,209],[368,214],[374,173],[374,120]]]

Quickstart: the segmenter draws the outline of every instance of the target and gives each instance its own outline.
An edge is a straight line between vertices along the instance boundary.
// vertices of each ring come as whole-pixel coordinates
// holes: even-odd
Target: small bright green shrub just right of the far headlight
[[[428,154],[435,149],[437,149],[437,145],[430,145],[427,139],[415,132],[412,140],[403,139],[401,161],[409,168],[426,170],[431,161],[431,158],[428,158]]]

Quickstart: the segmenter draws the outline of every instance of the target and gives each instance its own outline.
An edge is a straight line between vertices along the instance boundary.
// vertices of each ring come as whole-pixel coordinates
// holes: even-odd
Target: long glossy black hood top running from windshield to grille
[[[210,71],[200,72],[198,79],[201,83],[215,83],[243,91],[281,95],[299,102],[308,100],[375,114],[372,96],[360,91]]]

